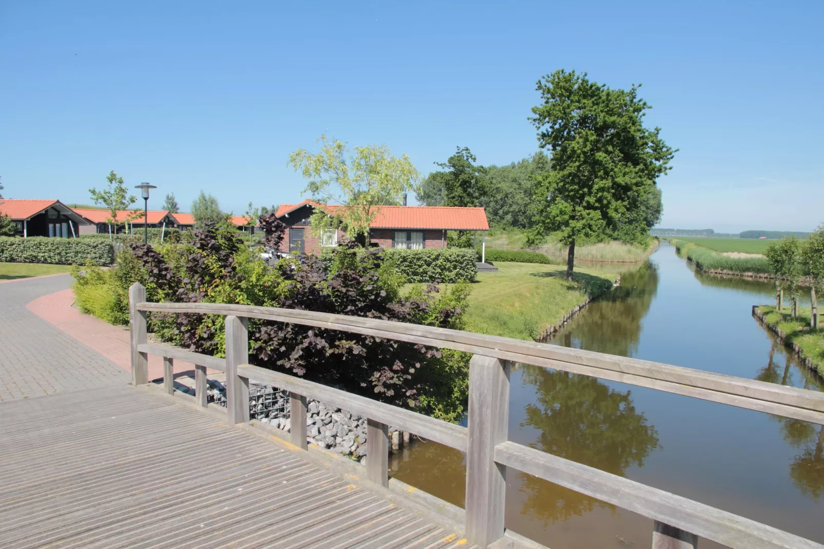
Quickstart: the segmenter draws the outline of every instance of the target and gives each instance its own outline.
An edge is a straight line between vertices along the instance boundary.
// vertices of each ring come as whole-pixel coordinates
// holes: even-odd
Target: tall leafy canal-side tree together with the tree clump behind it
[[[419,202],[483,206],[493,225],[526,229],[527,243],[555,233],[569,246],[570,280],[577,242],[645,242],[663,211],[656,181],[677,149],[659,128],[644,127],[651,107],[639,87],[611,89],[563,69],[543,77],[536,84],[542,102],[529,119],[541,151],[483,167],[469,148],[457,148],[436,162],[442,170],[420,185]]]

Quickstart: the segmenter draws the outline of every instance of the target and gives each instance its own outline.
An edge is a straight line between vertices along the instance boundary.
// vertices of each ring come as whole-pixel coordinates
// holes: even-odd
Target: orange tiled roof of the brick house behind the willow
[[[312,200],[300,204],[281,204],[277,215],[281,217],[305,205],[323,207]],[[335,213],[343,206],[325,206],[325,211]],[[458,208],[455,206],[381,206],[372,221],[371,228],[428,228],[461,231],[488,231],[489,222],[483,208]]]

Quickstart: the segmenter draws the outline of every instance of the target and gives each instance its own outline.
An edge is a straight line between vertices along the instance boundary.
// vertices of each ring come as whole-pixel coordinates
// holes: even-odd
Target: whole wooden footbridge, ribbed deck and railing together
[[[533,364],[824,425],[824,394],[430,326],[274,307],[147,303],[130,290],[134,387],[0,404],[2,547],[537,547],[504,524],[508,467],[654,520],[655,549],[824,546],[507,439],[510,364]],[[226,359],[147,344],[147,312],[226,316]],[[246,319],[472,353],[468,428],[250,365]],[[164,357],[162,391],[147,354]],[[197,364],[176,392],[175,359]],[[208,370],[227,407],[207,404]],[[250,380],[290,392],[287,433],[250,420]],[[162,393],[168,394],[162,394]],[[307,448],[307,398],[368,419],[366,467]],[[466,453],[466,509],[387,476],[387,426]],[[287,442],[283,442],[287,441]],[[407,491],[412,492],[407,493]]]

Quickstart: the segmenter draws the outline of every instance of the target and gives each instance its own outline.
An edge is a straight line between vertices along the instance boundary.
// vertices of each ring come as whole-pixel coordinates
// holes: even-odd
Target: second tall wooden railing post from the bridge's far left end
[[[249,421],[249,380],[237,375],[237,367],[249,364],[249,321],[226,317],[226,407],[229,425]]]

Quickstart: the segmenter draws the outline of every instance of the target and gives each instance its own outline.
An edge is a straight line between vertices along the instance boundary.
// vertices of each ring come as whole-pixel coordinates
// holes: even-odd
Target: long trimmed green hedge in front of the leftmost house
[[[0,262],[98,265],[115,262],[115,247],[106,240],[91,238],[0,237]]]

